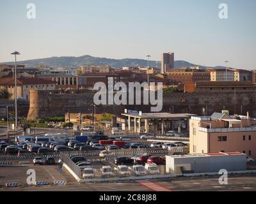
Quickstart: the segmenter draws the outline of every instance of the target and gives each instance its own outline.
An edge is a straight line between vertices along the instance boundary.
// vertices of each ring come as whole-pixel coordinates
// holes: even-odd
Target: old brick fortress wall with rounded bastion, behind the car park
[[[31,91],[30,94],[28,119],[64,116],[65,112],[93,112],[93,92]],[[97,106],[96,112],[120,115],[124,113],[125,108],[150,112],[148,105]],[[237,93],[235,100],[234,92],[164,93],[162,112],[202,115],[202,108],[205,108],[208,115],[225,109],[230,113],[243,115],[249,111],[252,117],[256,117],[256,94],[255,92]]]

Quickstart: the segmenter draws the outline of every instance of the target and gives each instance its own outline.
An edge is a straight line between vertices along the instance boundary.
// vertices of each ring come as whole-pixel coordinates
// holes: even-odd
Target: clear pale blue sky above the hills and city
[[[36,19],[27,18],[27,4]],[[228,5],[228,19],[218,16]],[[0,62],[52,56],[115,59],[175,52],[205,66],[256,68],[255,0],[1,0]]]

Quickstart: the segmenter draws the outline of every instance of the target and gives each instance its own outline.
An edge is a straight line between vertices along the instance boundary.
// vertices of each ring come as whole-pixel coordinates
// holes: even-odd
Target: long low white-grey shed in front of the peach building
[[[246,170],[246,154],[241,152],[219,152],[191,154],[186,156],[166,156],[167,173],[209,173]]]

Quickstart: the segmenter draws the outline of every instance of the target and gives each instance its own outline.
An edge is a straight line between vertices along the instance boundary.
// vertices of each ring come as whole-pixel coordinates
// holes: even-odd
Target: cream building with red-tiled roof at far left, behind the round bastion
[[[5,89],[15,98],[15,80],[12,77],[0,78],[0,89]],[[31,90],[55,90],[56,83],[42,78],[17,78],[17,98],[28,99]]]

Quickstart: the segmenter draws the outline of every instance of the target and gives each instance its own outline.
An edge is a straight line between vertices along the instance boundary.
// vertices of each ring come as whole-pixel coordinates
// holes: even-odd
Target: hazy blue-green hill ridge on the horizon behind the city
[[[31,59],[27,61],[19,61],[18,64],[24,64],[27,68],[35,68],[39,64],[44,64],[50,67],[72,67],[76,68],[83,64],[93,64],[99,66],[101,64],[110,64],[114,68],[123,66],[147,66],[148,61],[145,59],[108,59],[104,57],[92,57],[90,55],[83,55],[81,57],[49,57],[44,59]],[[13,62],[2,62],[1,64],[13,64]],[[150,66],[161,68],[160,61],[150,61]],[[200,66],[191,64],[186,61],[175,61],[175,68],[184,66]],[[202,66],[202,68],[205,68]],[[220,67],[218,67],[220,68]]]

